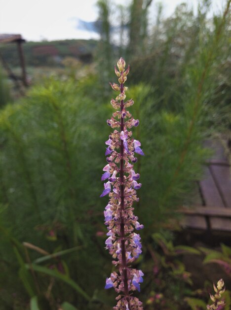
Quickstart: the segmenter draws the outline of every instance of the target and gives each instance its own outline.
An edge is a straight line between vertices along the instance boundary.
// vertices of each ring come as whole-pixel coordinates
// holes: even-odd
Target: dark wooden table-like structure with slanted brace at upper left
[[[26,66],[25,66],[25,59],[24,59],[24,53],[22,49],[22,43],[24,43],[25,40],[22,38],[21,35],[13,35],[13,34],[0,34],[0,44],[6,44],[6,43],[16,43],[18,48],[18,54],[20,59],[20,65],[22,70],[22,76],[17,77],[12,70],[10,69],[8,63],[3,59],[1,53],[0,53],[0,60],[2,62],[3,67],[8,73],[8,76],[12,78],[15,82],[17,80],[22,80],[24,86],[28,86],[27,83],[27,74],[26,74]]]

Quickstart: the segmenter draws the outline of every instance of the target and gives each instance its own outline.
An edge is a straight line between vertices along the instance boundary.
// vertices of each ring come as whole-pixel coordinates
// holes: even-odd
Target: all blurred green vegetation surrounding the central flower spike
[[[66,59],[14,103],[5,105],[0,77],[0,310],[115,305],[114,293],[103,289],[112,264],[104,249],[106,199],[99,195],[112,113],[108,82],[120,56],[131,65],[128,97],[140,119],[133,134],[146,154],[135,167],[143,184],[136,213],[145,225],[144,252],[136,264],[146,275],[145,309],[206,308],[211,283],[196,290],[183,254],[231,264],[226,245],[218,253],[177,247],[166,229],[179,206],[191,205],[210,155],[203,141],[230,133],[230,1],[214,17],[205,0],[196,14],[181,4],[167,19],[159,4],[153,23],[151,2],[115,10],[100,0],[94,62]],[[31,64],[38,59],[31,56]],[[228,310],[229,292],[226,302]]]

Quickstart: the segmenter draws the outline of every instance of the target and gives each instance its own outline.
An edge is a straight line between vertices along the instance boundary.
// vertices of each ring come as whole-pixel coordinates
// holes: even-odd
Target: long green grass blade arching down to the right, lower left
[[[84,292],[83,289],[74,280],[70,279],[67,275],[62,274],[57,270],[52,270],[52,269],[46,268],[44,266],[39,266],[35,263],[32,263],[31,266],[37,272],[45,273],[47,275],[58,278],[58,279],[62,280],[63,282],[69,284],[72,288],[74,288],[77,291],[78,294],[80,294],[82,297],[84,297],[87,301],[89,301],[91,299],[87,295],[87,293]],[[30,268],[30,266],[28,264],[26,264],[26,267],[28,269]]]

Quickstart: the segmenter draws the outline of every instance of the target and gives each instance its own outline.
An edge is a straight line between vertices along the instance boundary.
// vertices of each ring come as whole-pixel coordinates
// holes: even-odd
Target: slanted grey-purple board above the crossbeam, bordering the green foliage
[[[225,207],[220,193],[208,167],[205,167],[205,178],[199,182],[205,206]]]

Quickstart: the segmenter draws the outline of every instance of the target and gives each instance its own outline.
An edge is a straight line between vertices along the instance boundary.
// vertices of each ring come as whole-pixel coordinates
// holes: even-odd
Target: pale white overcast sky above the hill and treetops
[[[113,2],[129,4],[130,0]],[[183,0],[161,2],[164,16],[168,17]],[[196,8],[197,0],[184,2]],[[212,2],[213,11],[216,11],[224,6],[225,0]],[[0,34],[21,34],[27,41],[97,39],[96,33],[77,29],[78,19],[97,19],[98,10],[95,3],[96,0],[0,0]]]

